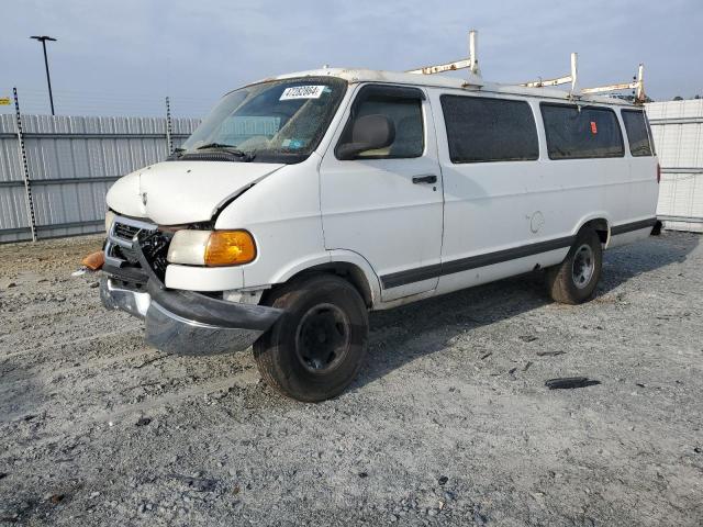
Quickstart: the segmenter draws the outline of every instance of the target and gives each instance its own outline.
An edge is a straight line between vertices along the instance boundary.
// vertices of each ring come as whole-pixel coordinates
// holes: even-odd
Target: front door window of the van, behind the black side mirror
[[[393,124],[395,138],[386,148],[365,150],[357,159],[398,159],[421,157],[425,150],[425,130],[422,116],[424,93],[416,88],[366,86],[361,88],[339,145],[352,143],[354,122],[366,115],[384,115]]]

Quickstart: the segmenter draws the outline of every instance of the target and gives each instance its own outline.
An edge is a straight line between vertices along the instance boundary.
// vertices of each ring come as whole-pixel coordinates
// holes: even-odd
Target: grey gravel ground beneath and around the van
[[[373,314],[315,405],[144,346],[70,276],[100,242],[0,246],[0,525],[703,524],[700,236],[607,251],[580,306],[523,277]]]

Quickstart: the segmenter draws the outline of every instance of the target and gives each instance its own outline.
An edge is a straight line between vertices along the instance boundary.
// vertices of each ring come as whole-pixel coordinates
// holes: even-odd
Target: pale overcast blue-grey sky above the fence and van
[[[646,65],[656,100],[703,94],[702,0],[22,0],[2,2],[0,97],[48,113],[41,44],[58,114],[152,114],[165,96],[199,116],[224,92],[328,64],[403,70],[461,58],[480,33],[483,77],[510,82],[568,72],[581,86],[622,82]],[[0,112],[11,110],[1,106]]]

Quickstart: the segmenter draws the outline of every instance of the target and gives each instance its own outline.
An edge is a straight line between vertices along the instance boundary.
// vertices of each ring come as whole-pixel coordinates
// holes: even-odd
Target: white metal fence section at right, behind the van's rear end
[[[661,165],[657,215],[667,228],[703,232],[703,100],[646,109]]]

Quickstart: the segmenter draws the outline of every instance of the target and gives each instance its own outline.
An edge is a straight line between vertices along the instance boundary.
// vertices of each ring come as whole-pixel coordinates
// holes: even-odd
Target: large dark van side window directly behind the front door
[[[442,96],[451,162],[524,161],[539,157],[537,127],[525,101]]]

